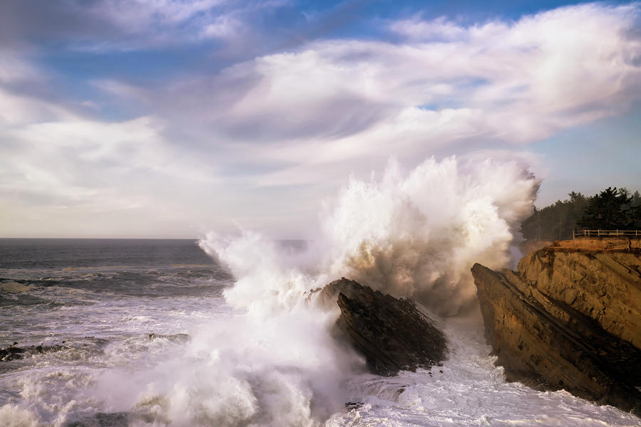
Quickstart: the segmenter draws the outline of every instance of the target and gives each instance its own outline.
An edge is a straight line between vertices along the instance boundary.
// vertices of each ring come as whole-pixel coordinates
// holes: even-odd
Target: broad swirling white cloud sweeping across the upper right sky
[[[157,96],[184,100],[182,120],[207,123],[218,142],[245,143],[244,159],[288,165],[258,185],[310,183],[370,168],[359,159],[372,157],[518,149],[639,99],[638,15],[636,5],[588,4],[456,31],[413,20],[404,43],[319,41]],[[440,27],[449,41],[415,34]]]

